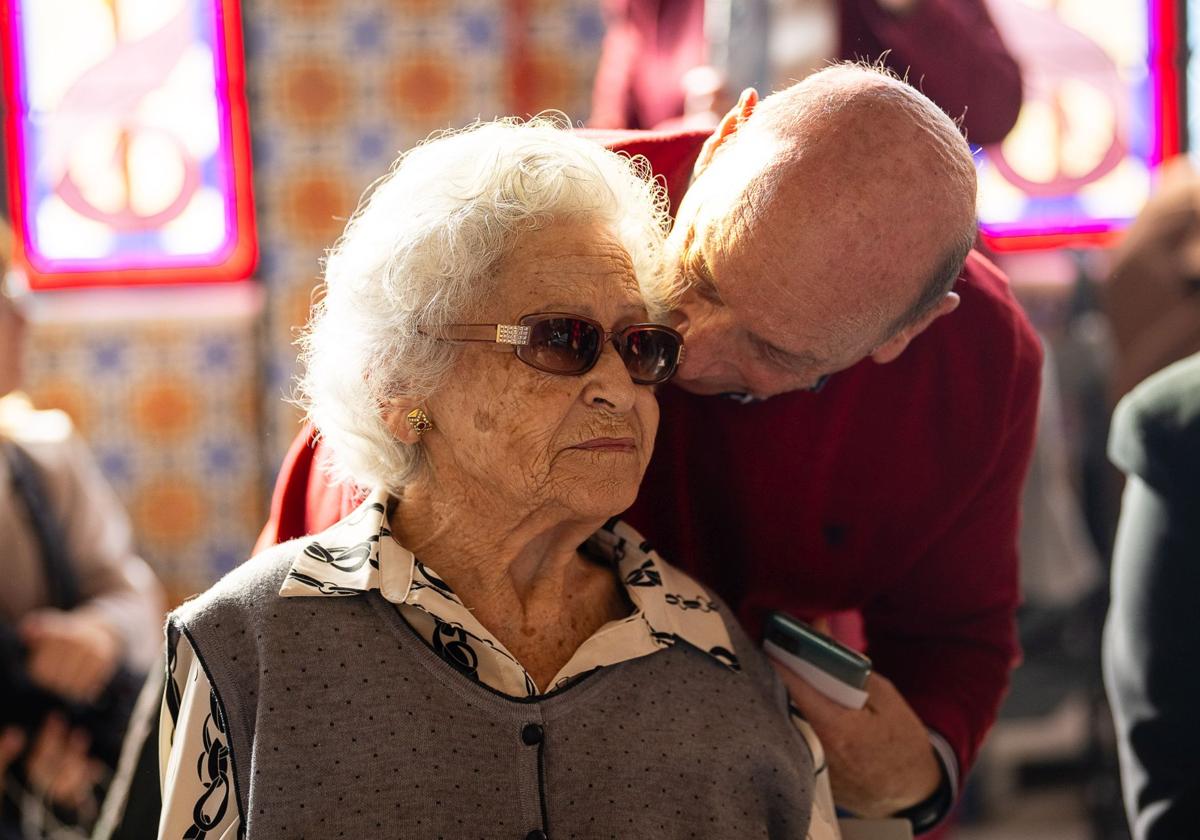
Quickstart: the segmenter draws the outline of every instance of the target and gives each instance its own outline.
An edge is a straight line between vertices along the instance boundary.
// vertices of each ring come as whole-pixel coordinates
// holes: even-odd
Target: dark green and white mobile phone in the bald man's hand
[[[762,646],[829,700],[851,709],[866,703],[871,660],[838,640],[775,611],[767,616]]]

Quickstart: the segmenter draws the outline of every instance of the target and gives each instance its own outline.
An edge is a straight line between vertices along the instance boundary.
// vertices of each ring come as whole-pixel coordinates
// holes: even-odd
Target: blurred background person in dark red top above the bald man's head
[[[710,128],[736,91],[838,59],[907,74],[977,145],[1002,140],[1021,108],[984,0],[606,0],[606,18],[594,128]]]

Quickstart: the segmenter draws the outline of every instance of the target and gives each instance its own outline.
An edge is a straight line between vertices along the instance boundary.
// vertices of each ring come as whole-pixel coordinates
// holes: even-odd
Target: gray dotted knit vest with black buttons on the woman
[[[299,545],[169,623],[223,709],[245,836],[805,836],[811,755],[727,611],[740,671],[677,643],[514,700],[442,660],[378,592],[280,598]]]

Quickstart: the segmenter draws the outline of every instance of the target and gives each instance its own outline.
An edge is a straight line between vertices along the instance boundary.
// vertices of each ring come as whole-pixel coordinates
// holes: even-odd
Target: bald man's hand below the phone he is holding
[[[833,798],[862,817],[887,817],[932,796],[942,780],[929,732],[896,688],[872,673],[862,709],[833,702],[772,660],[826,757]]]

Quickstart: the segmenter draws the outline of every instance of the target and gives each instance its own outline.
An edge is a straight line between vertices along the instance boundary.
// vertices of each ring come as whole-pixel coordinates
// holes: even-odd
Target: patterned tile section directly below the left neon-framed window
[[[30,396],[72,415],[172,599],[244,560],[265,512],[253,319],[55,319],[30,343]]]

